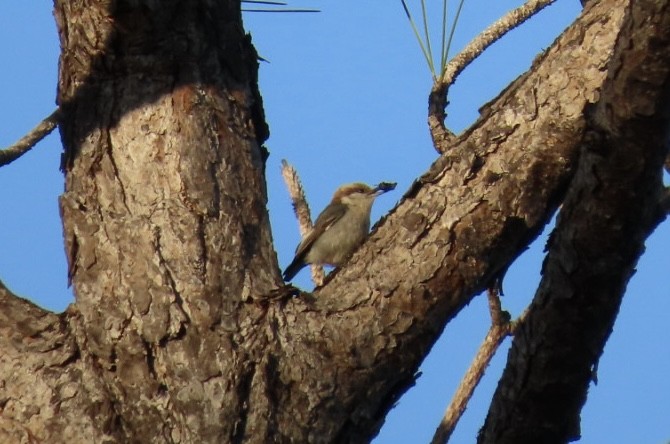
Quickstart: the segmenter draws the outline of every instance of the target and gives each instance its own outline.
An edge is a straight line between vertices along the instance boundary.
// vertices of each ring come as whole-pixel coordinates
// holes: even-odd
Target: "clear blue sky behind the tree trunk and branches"
[[[409,0],[418,12],[418,1]],[[432,1],[431,7],[441,2]],[[300,173],[313,212],[345,182],[382,180],[398,188],[375,204],[376,220],[392,208],[414,178],[435,159],[426,126],[430,74],[400,1],[302,0],[318,14],[246,13],[245,26],[269,63],[260,68],[271,137],[267,142],[269,209],[281,267],[299,234],[279,174],[285,158]],[[453,49],[519,2],[466,3]],[[448,126],[460,132],[477,110],[525,71],[579,14],[577,0],[558,0],[496,43],[450,92]],[[431,10],[439,17],[437,10]],[[439,33],[438,21],[433,29]],[[0,2],[0,146],[32,128],[54,108],[58,39],[48,1]],[[57,133],[0,169],[0,279],[19,295],[60,311],[72,302],[67,288],[57,198]],[[667,176],[666,176],[667,179]],[[519,314],[539,281],[544,238],[512,267],[504,307]],[[670,440],[670,224],[647,242],[629,284],[614,332],[582,411],[585,443],[667,443]],[[311,288],[308,272],[296,284]],[[432,437],[444,409],[489,325],[478,297],[446,328],[423,372],[387,418],[377,444],[421,443]],[[477,388],[453,443],[474,442],[506,358],[509,340]]]

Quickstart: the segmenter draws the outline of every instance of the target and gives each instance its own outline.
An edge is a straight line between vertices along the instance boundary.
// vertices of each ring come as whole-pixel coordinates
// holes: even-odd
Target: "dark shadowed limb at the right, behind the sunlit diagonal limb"
[[[650,38],[650,36],[654,36]],[[563,443],[579,413],[628,280],[665,218],[670,5],[631,2],[584,151],[549,243],[543,279],[515,335],[480,443]]]

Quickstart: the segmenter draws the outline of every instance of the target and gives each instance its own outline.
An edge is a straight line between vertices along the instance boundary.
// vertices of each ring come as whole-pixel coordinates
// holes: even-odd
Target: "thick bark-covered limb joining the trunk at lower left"
[[[114,409],[80,324],[76,311],[50,313],[0,282],[0,442],[109,441],[99,425]],[[76,417],[62,414],[69,408]]]

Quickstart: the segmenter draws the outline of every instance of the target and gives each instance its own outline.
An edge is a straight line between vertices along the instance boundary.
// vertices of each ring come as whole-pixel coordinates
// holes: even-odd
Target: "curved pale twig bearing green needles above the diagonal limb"
[[[486,28],[447,63],[442,77],[433,84],[433,89],[428,98],[428,128],[433,139],[433,145],[438,153],[446,152],[455,138],[454,134],[445,127],[444,120],[446,117],[447,93],[458,75],[503,35],[555,1],[528,0],[526,4],[508,12],[504,17]]]

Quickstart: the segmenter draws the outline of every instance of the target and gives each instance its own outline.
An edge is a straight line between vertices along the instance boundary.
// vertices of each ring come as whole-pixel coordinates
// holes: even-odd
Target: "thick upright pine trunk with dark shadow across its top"
[[[82,325],[81,358],[63,371],[81,366],[103,394],[61,408],[61,419],[39,414],[47,426],[33,433],[142,443],[260,434],[244,422],[255,362],[238,344],[241,324],[262,312],[240,305],[281,279],[257,61],[239,2],[55,7],[60,203],[76,297],[64,322]],[[74,416],[89,417],[88,434],[60,429]]]

